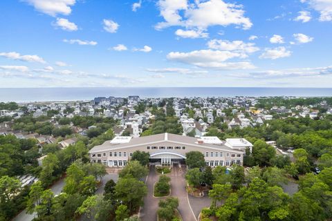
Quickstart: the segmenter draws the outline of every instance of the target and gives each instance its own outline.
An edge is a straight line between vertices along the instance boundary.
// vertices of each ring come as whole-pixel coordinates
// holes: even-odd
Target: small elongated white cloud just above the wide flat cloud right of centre
[[[208,47],[216,50],[228,50],[241,53],[241,57],[248,57],[248,53],[257,52],[259,48],[255,43],[244,43],[243,41],[228,41],[212,39],[208,41]]]

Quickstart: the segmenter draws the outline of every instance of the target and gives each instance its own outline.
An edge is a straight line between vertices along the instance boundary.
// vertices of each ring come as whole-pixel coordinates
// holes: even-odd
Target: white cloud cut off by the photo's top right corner
[[[320,21],[332,21],[332,1],[331,0],[301,0],[308,3],[311,8],[320,12]]]

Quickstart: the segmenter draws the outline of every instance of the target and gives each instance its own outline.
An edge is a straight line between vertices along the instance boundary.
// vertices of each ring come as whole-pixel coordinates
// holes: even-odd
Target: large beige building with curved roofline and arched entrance
[[[118,136],[94,146],[89,155],[91,162],[106,166],[125,166],[133,152],[145,151],[149,152],[151,163],[172,165],[183,163],[186,153],[200,151],[208,166],[231,166],[243,164],[247,148],[251,151],[252,144],[243,138],[221,141],[218,137],[195,138],[161,133],[136,138]]]

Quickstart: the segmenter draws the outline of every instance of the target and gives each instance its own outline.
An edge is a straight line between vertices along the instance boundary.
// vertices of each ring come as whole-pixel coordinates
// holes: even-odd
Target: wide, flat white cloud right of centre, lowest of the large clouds
[[[225,50],[194,50],[192,52],[169,52],[167,59],[201,68],[218,68],[225,70],[255,68],[250,62],[224,62],[228,59],[242,57],[239,52]]]

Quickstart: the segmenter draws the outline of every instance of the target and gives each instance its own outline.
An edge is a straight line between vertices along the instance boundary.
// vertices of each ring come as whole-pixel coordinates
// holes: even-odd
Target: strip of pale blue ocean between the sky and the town
[[[57,102],[94,97],[331,97],[332,88],[0,88],[0,102]]]

